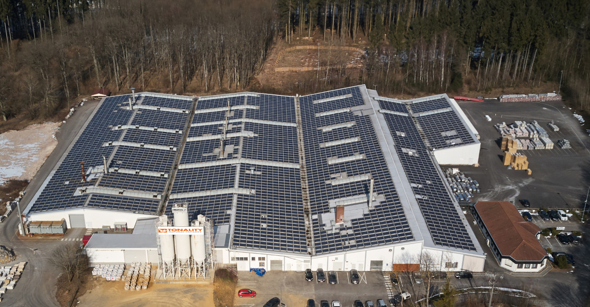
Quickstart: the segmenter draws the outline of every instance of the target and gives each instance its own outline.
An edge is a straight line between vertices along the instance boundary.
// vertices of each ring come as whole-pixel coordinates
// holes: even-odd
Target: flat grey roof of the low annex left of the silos
[[[86,249],[158,249],[156,234],[95,233]]]

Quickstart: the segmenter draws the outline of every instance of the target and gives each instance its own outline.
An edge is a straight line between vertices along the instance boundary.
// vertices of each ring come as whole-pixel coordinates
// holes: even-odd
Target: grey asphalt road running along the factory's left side
[[[41,187],[47,175],[60,160],[98,103],[98,101],[86,102],[84,106],[77,107],[74,115],[55,133],[58,145],[28,185],[27,194],[21,200],[22,210],[34,197],[35,192]],[[17,225],[18,214],[16,213],[11,214],[4,223],[0,224],[0,244],[8,249],[14,249],[17,254],[17,260],[8,265],[22,261],[28,262],[28,264],[25,266],[15,289],[8,290],[2,296],[2,305],[17,307],[59,306],[55,300],[55,280],[57,280],[59,271],[49,264],[48,258],[55,246],[66,243],[64,241],[19,240],[15,236]]]

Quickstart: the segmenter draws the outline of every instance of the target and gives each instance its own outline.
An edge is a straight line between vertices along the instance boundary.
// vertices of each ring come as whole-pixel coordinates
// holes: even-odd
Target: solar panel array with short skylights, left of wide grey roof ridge
[[[352,97],[313,103],[314,100],[351,94]],[[332,174],[346,172],[348,177],[371,174],[375,179],[374,192],[383,195],[385,201],[369,210],[362,218],[355,218],[351,226],[341,227],[339,232],[327,233],[319,219],[313,220],[314,244],[316,254],[356,249],[359,247],[391,244],[399,241],[413,240],[408,221],[402,209],[394,182],[379,147],[375,130],[368,115],[353,115],[352,112],[316,117],[316,113],[365,104],[358,87],[334,90],[300,99],[301,117],[309,184],[310,203],[313,214],[328,213],[329,200],[366,195],[369,180],[349,184],[331,185],[326,181],[333,179]],[[323,132],[318,129],[339,123],[355,122],[350,128]],[[360,137],[359,142],[336,146],[320,147],[321,143]],[[366,158],[328,165],[327,158],[364,154]]]

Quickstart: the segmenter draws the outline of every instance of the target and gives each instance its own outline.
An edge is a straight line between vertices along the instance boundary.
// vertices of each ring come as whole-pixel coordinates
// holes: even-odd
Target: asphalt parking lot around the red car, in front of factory
[[[326,272],[327,273],[327,272]],[[343,306],[352,306],[355,300],[372,301],[378,299],[388,301],[385,279],[381,272],[359,272],[360,283],[350,282],[349,272],[336,272],[337,284],[317,282],[316,274],[313,281],[307,282],[303,272],[268,271],[263,277],[238,272],[238,288],[251,289],[257,292],[255,298],[235,298],[235,306],[262,306],[269,299],[277,297],[288,307],[305,306],[308,299],[314,299],[316,305],[326,300],[339,301]],[[326,274],[327,275],[327,274]],[[327,277],[326,277],[327,278]],[[238,290],[239,290],[238,289]],[[394,290],[395,294],[398,293]]]

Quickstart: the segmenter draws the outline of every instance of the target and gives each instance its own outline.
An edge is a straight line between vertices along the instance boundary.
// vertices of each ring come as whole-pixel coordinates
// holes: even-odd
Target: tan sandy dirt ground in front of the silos
[[[148,289],[140,291],[126,291],[123,286],[121,281],[91,276],[89,290],[73,306],[214,306],[213,287],[209,285],[150,283]]]

